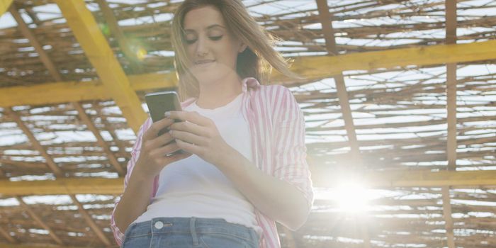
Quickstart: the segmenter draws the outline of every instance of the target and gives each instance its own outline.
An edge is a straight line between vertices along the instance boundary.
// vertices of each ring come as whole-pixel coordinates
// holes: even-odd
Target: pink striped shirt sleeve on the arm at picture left
[[[135,167],[137,158],[140,157],[140,150],[141,150],[141,145],[142,145],[142,140],[143,140],[143,135],[150,128],[150,125],[152,124],[152,121],[150,118],[148,118],[143,125],[141,125],[140,130],[137,132],[137,138],[135,145],[133,145],[133,150],[131,151],[131,159],[128,162],[128,172],[125,174],[124,177],[124,191],[125,188],[128,186],[128,182],[131,176],[131,173],[133,172],[133,168]],[[124,240],[124,234],[119,230],[119,227],[115,225],[115,208],[117,208],[117,205],[120,201],[120,198],[123,195],[120,194],[119,197],[115,198],[115,206],[112,210],[112,215],[111,215],[111,230],[113,232],[113,237],[115,238],[115,242],[120,246]]]

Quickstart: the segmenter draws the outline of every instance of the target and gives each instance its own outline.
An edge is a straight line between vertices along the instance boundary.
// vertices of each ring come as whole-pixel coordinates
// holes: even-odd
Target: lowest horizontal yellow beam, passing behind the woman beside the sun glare
[[[317,187],[337,186],[335,171],[312,168],[312,180]],[[441,187],[441,186],[496,186],[496,171],[396,171],[373,172],[356,176],[371,188],[390,187]],[[101,179],[61,178],[50,181],[0,180],[1,196],[68,195],[68,194],[113,194],[123,192],[123,178]]]

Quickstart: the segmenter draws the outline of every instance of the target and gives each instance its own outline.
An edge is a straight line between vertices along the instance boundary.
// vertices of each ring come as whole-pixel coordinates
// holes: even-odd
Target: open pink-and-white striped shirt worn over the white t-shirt
[[[291,91],[280,85],[260,85],[254,78],[242,81],[242,114],[248,120],[252,137],[252,152],[257,167],[266,174],[296,186],[312,207],[313,191],[310,171],[306,162],[305,120],[298,103]],[[182,108],[195,101],[188,98],[181,103]],[[152,125],[148,118],[137,133],[137,140],[128,162],[128,173],[124,179],[124,188],[128,185],[130,174],[140,155],[142,136]],[[152,197],[157,193],[158,176],[154,180]],[[115,202],[117,206],[118,201]],[[111,216],[111,228],[115,241],[120,245],[124,234],[115,225],[115,208]],[[263,230],[260,239],[261,248],[279,248],[276,222],[260,213],[255,206],[257,222]]]

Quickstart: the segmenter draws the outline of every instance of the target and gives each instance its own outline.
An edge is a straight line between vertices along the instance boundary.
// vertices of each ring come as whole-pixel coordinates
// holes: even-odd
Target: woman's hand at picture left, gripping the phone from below
[[[172,152],[181,150],[174,141],[169,132],[157,136],[159,131],[167,128],[174,123],[174,119],[163,118],[162,120],[152,123],[150,128],[143,135],[140,157],[138,157],[133,174],[153,179],[167,164],[176,162],[191,156],[191,153],[179,153],[169,155]]]

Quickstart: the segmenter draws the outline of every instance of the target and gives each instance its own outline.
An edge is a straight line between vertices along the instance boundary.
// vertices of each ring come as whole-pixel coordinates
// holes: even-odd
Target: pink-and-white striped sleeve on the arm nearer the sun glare
[[[308,210],[313,204],[312,180],[305,146],[305,118],[298,102],[285,86],[278,87],[273,108],[274,176],[296,186],[307,199]]]

